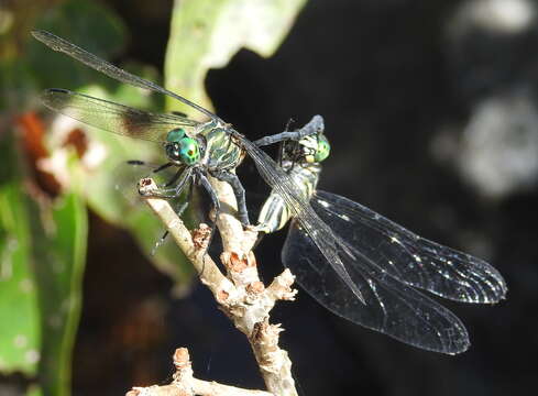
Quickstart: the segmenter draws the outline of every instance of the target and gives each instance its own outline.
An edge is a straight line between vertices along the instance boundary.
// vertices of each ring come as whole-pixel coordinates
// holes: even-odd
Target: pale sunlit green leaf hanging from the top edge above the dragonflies
[[[223,67],[241,48],[271,56],[306,0],[176,0],[165,59],[166,87],[205,107],[210,68]],[[167,109],[194,114],[167,98]]]

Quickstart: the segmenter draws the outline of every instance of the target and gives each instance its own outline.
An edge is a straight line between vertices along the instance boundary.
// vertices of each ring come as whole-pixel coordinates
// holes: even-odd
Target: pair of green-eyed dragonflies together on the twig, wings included
[[[455,354],[469,336],[458,317],[420,293],[462,302],[492,304],[505,297],[499,273],[481,258],[422,239],[347,198],[316,189],[329,142],[318,116],[296,131],[249,141],[216,114],[158,85],[134,76],[44,31],[34,37],[111,78],[167,95],[208,118],[151,113],[73,92],[47,89],[43,102],[89,125],[162,144],[174,168],[172,179],[154,193],[175,198],[186,186],[202,186],[219,206],[208,175],[231,185],[238,218],[249,224],[245,194],[234,173],[244,154],[271,186],[259,230],[268,233],[292,219],[282,258],[298,283],[321,305],[358,324],[426,350]],[[275,163],[260,146],[281,143]]]

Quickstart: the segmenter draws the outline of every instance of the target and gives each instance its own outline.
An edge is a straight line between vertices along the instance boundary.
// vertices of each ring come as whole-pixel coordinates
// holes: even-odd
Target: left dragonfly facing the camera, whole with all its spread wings
[[[209,175],[229,183],[233,188],[238,200],[239,220],[246,227],[249,215],[245,193],[233,170],[243,157],[249,155],[262,178],[271,188],[278,191],[289,211],[300,221],[320,253],[331,263],[339,278],[355,298],[364,300],[342,263],[341,255],[352,253],[345,245],[342,245],[341,241],[333,238],[330,228],[310,207],[293,178],[257,144],[249,141],[230,123],[224,122],[209,110],[152,81],[134,76],[67,40],[46,31],[33,31],[32,35],[52,50],[64,53],[120,82],[172,97],[208,119],[208,121],[200,122],[178,113],[147,112],[67,89],[50,88],[42,94],[43,103],[51,110],[108,132],[161,144],[167,162],[155,168],[153,173],[171,167],[176,167],[177,172],[168,183],[152,193],[152,196],[177,198],[186,185],[191,186],[193,183],[196,183],[211,196],[218,212],[219,200],[208,182],[207,176]],[[285,131],[265,136],[263,142],[278,143],[287,139],[297,140],[301,133],[310,133],[310,131]],[[138,162],[134,163],[138,164]]]

